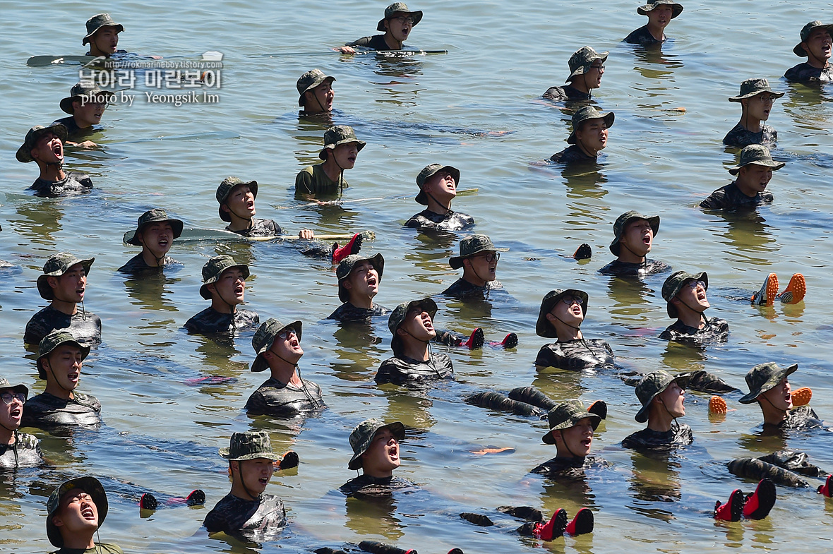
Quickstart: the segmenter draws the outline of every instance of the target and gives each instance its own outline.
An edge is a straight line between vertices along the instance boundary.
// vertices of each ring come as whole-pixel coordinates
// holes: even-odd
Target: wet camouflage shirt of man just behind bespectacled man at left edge
[[[73,391],[70,400],[42,392],[26,401],[23,427],[40,429],[64,425],[95,426],[102,422],[102,405],[91,394]]]

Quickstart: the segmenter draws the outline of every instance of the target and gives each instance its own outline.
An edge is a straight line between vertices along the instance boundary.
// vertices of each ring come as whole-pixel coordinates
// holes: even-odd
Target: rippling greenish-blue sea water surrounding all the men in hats
[[[695,445],[662,462],[618,446],[641,427],[633,421],[637,402],[630,387],[605,374],[538,373],[531,364],[545,342],[534,333],[541,297],[575,286],[590,295],[586,337],[610,342],[622,366],[642,372],[706,369],[742,387],[756,363],[798,362],[793,387],[812,387],[812,406],[831,417],[833,330],[825,315],[833,286],[827,242],[833,229],[830,92],[779,80],[800,61],[791,52],[799,30],[823,13],[795,2],[686,4],[668,27],[674,41],[656,56],[619,44],[645,22],[636,15],[636,3],[430,1],[411,7],[424,10],[425,17],[408,42],[448,49],[448,55],[401,62],[325,53],[372,34],[383,9],[374,2],[108,6],[126,28],[120,47],[188,59],[207,50],[223,52],[221,101],[109,108],[106,130],[94,137],[104,148],[67,153],[67,168],[87,172],[96,189],[83,197],[44,200],[24,192],[36,168],[16,162],[13,153],[28,127],[62,117],[57,103],[77,82],[77,70],[25,62],[32,55],[84,53],[83,22],[97,8],[0,2],[0,12],[14,22],[0,37],[0,257],[20,268],[0,276],[2,373],[26,382],[33,393],[42,390],[32,355],[22,347],[23,327],[43,306],[35,279],[52,252],[95,256],[86,305],[102,317],[104,343],[87,360],[82,389],[102,401],[106,423],[101,431],[71,437],[36,432],[53,468],[0,477],[0,550],[49,552],[46,497],[63,478],[88,473],[105,477],[109,492],[104,542],[125,552],[247,552],[200,530],[207,509],[229,487],[216,449],[227,446],[232,432],[247,429],[269,431],[279,452],[292,448],[302,461],[267,488],[283,498],[291,523],[280,542],[256,549],[262,552],[308,552],[363,539],[423,554],[451,547],[534,552],[535,542],[513,535],[514,522],[494,512],[520,504],[546,513],[566,507],[571,515],[581,505],[593,507],[595,532],[546,544],[553,552],[826,549],[833,504],[810,489],[780,487],[775,509],[761,522],[711,519],[715,500],[725,501],[733,488],[753,487],[732,477],[723,462],[783,446],[757,437],[760,413],[739,405],[737,395],[728,397],[736,411],[722,422],[707,417],[707,395],[688,395],[684,421],[694,430]],[[594,96],[601,108],[616,112],[616,124],[598,172],[563,175],[530,163],[566,147],[569,129],[558,107],[537,98],[561,84],[567,58],[585,44],[611,51]],[[353,124],[368,142],[347,172],[349,202],[342,207],[302,207],[292,199],[294,177],[317,160],[323,132],[295,115],[295,81],[312,67],[337,78],[337,122]],[[740,114],[726,98],[748,77],[767,77],[787,92],[769,121],[779,132],[776,157],[787,162],[770,185],[776,201],[754,217],[705,214],[697,203],[729,182],[726,167],[735,162],[721,138]],[[676,107],[686,112],[665,111]],[[460,128],[471,133],[450,132]],[[482,131],[509,133],[484,137]],[[289,232],[374,230],[377,240],[363,252],[385,256],[377,297],[383,306],[435,294],[456,278],[447,266],[456,243],[431,242],[402,227],[421,210],[412,201],[414,178],[431,162],[460,168],[461,188],[477,192],[458,198],[454,207],[476,217],[477,232],[511,247],[501,257],[498,278],[516,302],[498,303],[491,313],[450,302],[436,319],[461,330],[483,327],[491,340],[516,332],[520,345],[509,352],[450,352],[456,383],[427,392],[377,387],[372,377],[390,356],[387,326],[379,322],[357,336],[324,321],[339,303],[335,276],[327,264],[311,262],[291,245],[175,243],[172,256],[184,267],[164,281],[126,282],[115,273],[136,253],[121,237],[142,212],[165,207],[187,227],[220,227],[214,191],[223,177],[237,175],[260,183],[258,217],[274,218]],[[366,198],[372,200],[354,202]],[[709,314],[729,322],[729,342],[700,352],[660,341],[659,332],[670,323],[660,295],[664,276],[637,287],[596,273],[611,257],[612,222],[629,209],[662,218],[652,257],[709,273]],[[593,247],[590,262],[557,256],[581,242]],[[251,333],[223,345],[182,332],[187,318],[205,307],[197,293],[200,269],[217,253],[250,264],[248,307],[262,319],[304,322],[302,372],[322,386],[330,407],[320,417],[248,418],[242,406],[262,382],[248,372]],[[805,305],[767,310],[736,300],[751,294],[768,272],[783,282],[793,272],[804,273],[810,291]],[[237,381],[186,383],[207,375]],[[555,455],[541,444],[542,422],[460,400],[471,390],[528,384],[558,400],[608,402],[610,415],[596,433],[594,450],[614,469],[591,478],[590,491],[527,476]],[[367,417],[397,419],[415,430],[402,445],[397,475],[422,491],[397,497],[392,507],[346,502],[333,493],[355,475],[347,470],[347,435]],[[796,434],[787,444],[833,468],[830,437]],[[471,454],[482,446],[515,452]],[[197,487],[207,493],[206,508],[140,517],[137,498],[144,490],[183,496]],[[456,517],[463,511],[488,513],[500,525],[474,527]]]

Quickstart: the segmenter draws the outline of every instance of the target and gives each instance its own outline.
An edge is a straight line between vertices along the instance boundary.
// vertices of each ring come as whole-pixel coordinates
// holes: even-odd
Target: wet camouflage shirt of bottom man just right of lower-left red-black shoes
[[[281,499],[271,494],[262,494],[257,500],[243,500],[229,493],[208,512],[202,525],[209,533],[224,532],[261,542],[277,536],[286,527],[287,512]]]

